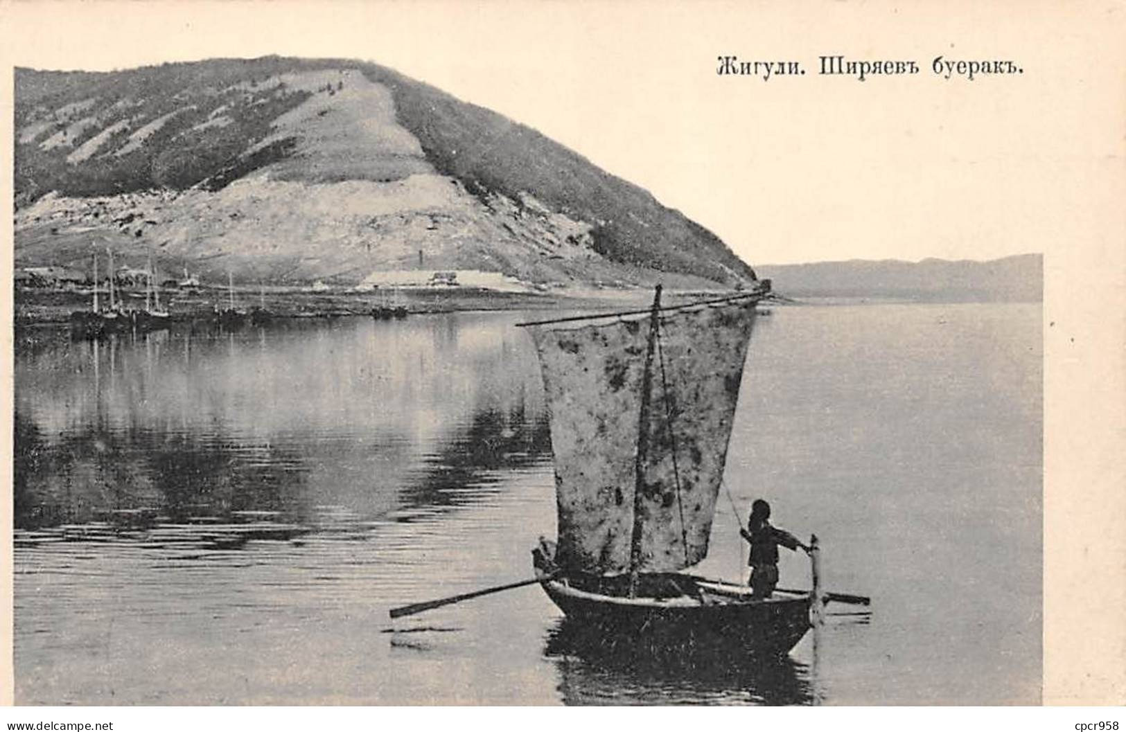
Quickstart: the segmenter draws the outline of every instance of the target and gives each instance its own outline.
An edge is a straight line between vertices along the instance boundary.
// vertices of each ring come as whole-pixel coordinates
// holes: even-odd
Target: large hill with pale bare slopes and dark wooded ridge
[[[16,259],[111,247],[205,280],[733,286],[752,270],[647,191],[489,109],[347,60],[17,69]]]

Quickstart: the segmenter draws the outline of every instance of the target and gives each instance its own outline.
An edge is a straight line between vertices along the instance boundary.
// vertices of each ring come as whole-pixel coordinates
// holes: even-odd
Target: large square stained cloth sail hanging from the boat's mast
[[[551,412],[561,566],[619,574],[636,556],[638,571],[660,572],[707,555],[756,302],[661,311],[647,380],[650,315],[530,329]]]

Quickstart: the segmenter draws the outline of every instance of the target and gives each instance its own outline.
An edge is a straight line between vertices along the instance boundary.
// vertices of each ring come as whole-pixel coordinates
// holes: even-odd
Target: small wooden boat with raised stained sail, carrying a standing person
[[[533,551],[568,616],[610,636],[785,654],[817,588],[754,597],[685,573],[707,555],[756,305],[765,291],[649,311],[522,323],[551,417],[558,543]],[[815,545],[815,538],[812,541]]]

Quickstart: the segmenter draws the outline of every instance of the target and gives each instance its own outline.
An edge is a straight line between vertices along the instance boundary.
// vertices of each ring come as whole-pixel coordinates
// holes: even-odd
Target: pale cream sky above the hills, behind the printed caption
[[[1110,154],[1088,134],[1082,75],[1099,70],[1092,39],[1069,34],[1070,12],[1051,2],[0,5],[19,29],[3,52],[16,65],[276,53],[392,66],[535,127],[758,265],[1057,246]],[[835,54],[920,71],[819,74],[819,56]],[[947,80],[931,72],[939,54],[1011,59],[1025,73]],[[806,75],[720,75],[720,55],[797,61]]]

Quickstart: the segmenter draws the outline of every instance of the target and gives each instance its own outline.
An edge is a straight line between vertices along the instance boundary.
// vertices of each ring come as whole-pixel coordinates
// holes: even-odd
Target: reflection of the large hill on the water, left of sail
[[[21,345],[17,525],[457,503],[547,450],[529,354],[495,315]]]

